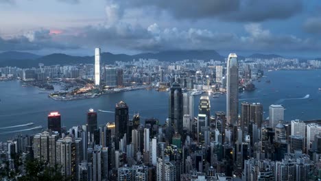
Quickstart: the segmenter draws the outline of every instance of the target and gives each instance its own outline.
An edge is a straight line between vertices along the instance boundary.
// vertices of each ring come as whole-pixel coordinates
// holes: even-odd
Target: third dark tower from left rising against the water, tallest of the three
[[[119,141],[127,132],[128,119],[128,106],[125,102],[120,101],[115,108],[115,149],[119,149]]]

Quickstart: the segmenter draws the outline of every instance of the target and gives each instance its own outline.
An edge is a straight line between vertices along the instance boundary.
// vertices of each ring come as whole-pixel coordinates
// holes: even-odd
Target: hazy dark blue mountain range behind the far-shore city
[[[224,56],[221,56],[215,50],[172,50],[160,51],[158,53],[139,53],[136,55],[114,54],[104,52],[101,54],[103,64],[114,64],[115,61],[129,62],[132,60],[139,60],[139,58],[152,58],[160,61],[176,62],[179,60],[221,60],[224,61]],[[278,55],[270,54],[253,54],[248,58],[277,58]],[[245,57],[239,56],[239,59]],[[53,64],[93,64],[95,56],[69,56],[64,53],[52,53],[47,56],[39,56],[33,53],[25,53],[19,51],[5,51],[0,53],[0,67],[38,67],[39,63],[45,65]]]

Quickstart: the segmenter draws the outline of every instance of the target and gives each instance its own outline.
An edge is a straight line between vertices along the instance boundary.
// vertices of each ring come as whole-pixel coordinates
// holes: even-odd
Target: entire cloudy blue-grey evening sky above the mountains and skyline
[[[320,0],[0,0],[0,51],[321,57]]]

